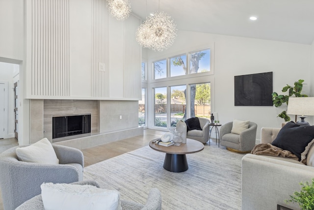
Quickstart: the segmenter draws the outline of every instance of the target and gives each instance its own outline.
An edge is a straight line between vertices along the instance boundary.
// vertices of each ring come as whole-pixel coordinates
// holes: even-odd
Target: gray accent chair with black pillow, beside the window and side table
[[[185,122],[184,122],[185,126],[182,126],[181,123],[177,123],[177,130],[183,132],[182,134],[183,138],[185,137],[184,134],[186,134],[186,138],[194,139],[205,144],[209,140],[209,120],[206,118],[198,118],[198,120],[200,121],[202,130],[187,131]]]

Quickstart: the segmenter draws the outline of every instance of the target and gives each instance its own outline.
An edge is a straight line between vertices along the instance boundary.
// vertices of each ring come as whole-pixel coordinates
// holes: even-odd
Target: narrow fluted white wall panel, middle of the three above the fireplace
[[[109,96],[109,35],[108,35],[108,11],[105,0],[93,0],[92,18],[92,78],[93,96]]]

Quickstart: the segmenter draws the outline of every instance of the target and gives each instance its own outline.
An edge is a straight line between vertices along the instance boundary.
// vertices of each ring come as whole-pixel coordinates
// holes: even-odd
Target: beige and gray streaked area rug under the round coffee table
[[[187,154],[189,169],[173,173],[163,168],[165,153],[149,146],[84,168],[84,180],[117,189],[121,199],[145,204],[157,187],[163,210],[240,210],[241,158],[215,144]]]

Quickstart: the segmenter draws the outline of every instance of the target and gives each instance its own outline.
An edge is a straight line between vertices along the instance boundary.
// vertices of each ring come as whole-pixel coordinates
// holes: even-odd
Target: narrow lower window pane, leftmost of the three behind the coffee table
[[[155,126],[167,127],[167,88],[155,88]]]

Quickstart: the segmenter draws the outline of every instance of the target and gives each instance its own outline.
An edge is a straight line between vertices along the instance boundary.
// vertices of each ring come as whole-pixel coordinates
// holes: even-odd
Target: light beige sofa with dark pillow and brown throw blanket
[[[271,143],[280,128],[261,129],[261,143]],[[307,155],[314,155],[314,146]],[[314,167],[285,157],[246,154],[242,158],[242,210],[276,210],[277,204],[299,209],[298,204],[287,204],[300,182],[311,182]]]

